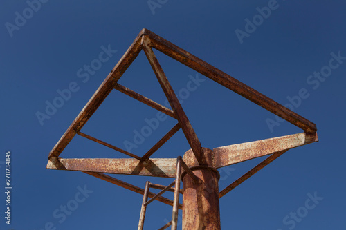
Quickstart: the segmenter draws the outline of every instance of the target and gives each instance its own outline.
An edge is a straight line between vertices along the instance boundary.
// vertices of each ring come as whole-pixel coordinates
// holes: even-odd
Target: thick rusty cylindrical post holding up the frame
[[[208,163],[212,162],[211,150],[203,148]],[[184,162],[196,161],[191,150],[184,155]],[[199,178],[195,182],[184,172],[183,180],[183,230],[220,230],[219,172],[211,166],[190,168]]]

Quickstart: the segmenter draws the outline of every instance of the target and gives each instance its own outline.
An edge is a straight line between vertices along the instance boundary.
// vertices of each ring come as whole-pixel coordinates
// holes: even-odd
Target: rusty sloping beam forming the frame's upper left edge
[[[67,144],[69,144],[75,134],[80,131],[80,129],[88,121],[91,115],[95,113],[96,109],[98,109],[104,99],[106,99],[109,93],[111,93],[111,90],[113,89],[118,79],[120,79],[122,74],[125,73],[127,68],[131,65],[134,59],[136,59],[136,57],[138,56],[139,52],[142,50],[140,42],[145,30],[146,29],[143,29],[136,37],[136,39],[134,39],[134,42],[118,61],[118,64],[116,64],[113,70],[111,70],[111,73],[109,73],[107,78],[104,79],[98,90],[96,90],[91,99],[89,99],[89,102],[86,103],[86,106],[84,106],[82,111],[80,111],[80,114],[72,122],[71,126],[69,126],[64,135],[62,135],[57,144],[55,144],[55,146],[49,153],[48,158],[58,157],[62,153],[64,148],[67,146]]]

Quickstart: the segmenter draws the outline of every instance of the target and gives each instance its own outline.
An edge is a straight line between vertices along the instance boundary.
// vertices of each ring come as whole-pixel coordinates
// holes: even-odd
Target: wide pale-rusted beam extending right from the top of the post
[[[298,133],[255,142],[223,146],[212,150],[213,164],[215,168],[220,168],[313,142],[318,142],[316,133]]]

